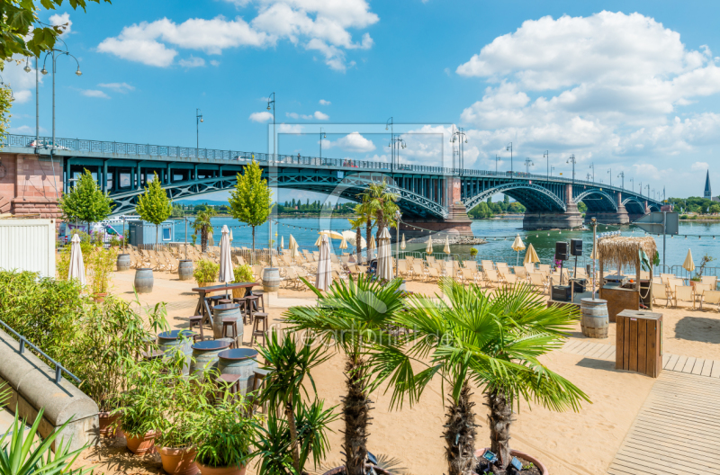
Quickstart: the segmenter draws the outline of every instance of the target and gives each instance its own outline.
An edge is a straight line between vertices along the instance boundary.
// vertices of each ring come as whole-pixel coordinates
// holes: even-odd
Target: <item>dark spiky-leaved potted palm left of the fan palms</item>
[[[318,399],[311,370],[328,360],[322,345],[312,348],[312,338],[286,332],[281,338],[275,328],[265,347],[257,351],[266,361],[265,389],[256,395],[267,407],[266,425],[258,425],[258,475],[298,475],[310,462],[317,467],[329,451],[328,425],[337,418],[334,408],[323,407]],[[308,382],[303,387],[303,382]],[[314,399],[304,400],[302,395]]]

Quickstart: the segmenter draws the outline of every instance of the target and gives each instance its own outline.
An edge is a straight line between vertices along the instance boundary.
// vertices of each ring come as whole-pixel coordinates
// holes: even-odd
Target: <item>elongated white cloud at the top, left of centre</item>
[[[257,16],[249,23],[239,16],[234,20],[223,16],[211,20],[191,18],[179,24],[167,18],[140,22],[126,26],[117,37],[103,40],[98,50],[149,66],[168,67],[177,54],[175,48],[221,54],[223,49],[264,48],[274,46],[278,40],[289,40],[304,49],[320,51],[329,67],[345,71],[355,65],[355,61],[347,61],[347,50],[370,49],[374,45],[368,32],[354,41],[349,31],[379,21],[365,0],[229,1],[239,6],[255,4]]]

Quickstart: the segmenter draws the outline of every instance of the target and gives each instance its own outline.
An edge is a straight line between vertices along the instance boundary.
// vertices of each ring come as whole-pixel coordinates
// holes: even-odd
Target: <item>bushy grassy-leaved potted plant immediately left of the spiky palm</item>
[[[257,417],[247,417],[248,401],[225,391],[220,400],[202,404],[193,440],[202,475],[245,475],[257,439]]]

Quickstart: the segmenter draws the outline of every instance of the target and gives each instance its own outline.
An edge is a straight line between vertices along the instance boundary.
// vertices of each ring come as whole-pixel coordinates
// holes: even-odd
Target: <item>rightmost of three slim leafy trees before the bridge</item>
[[[263,170],[255,160],[238,174],[235,190],[230,192],[230,214],[236,220],[247,223],[253,232],[253,253],[255,253],[255,229],[266,222],[272,211],[273,192],[263,179]]]

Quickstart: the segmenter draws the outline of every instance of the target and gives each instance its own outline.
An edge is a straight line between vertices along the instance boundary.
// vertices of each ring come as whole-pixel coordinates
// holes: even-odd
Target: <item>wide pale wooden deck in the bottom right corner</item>
[[[720,474],[720,380],[661,372],[608,473]]]

